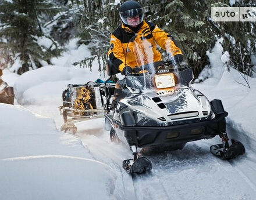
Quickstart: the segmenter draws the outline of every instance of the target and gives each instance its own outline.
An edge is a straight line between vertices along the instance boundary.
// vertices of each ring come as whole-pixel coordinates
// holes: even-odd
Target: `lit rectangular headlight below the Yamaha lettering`
[[[175,86],[174,74],[158,74],[155,75],[155,85],[157,88],[170,88]]]

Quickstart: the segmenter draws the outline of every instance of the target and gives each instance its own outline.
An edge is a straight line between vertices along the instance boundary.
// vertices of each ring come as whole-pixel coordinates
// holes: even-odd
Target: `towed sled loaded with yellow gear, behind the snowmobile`
[[[108,83],[108,85],[115,88],[115,84]],[[106,102],[102,94],[105,95],[104,83],[90,81],[86,84],[67,85],[67,89],[62,93],[63,106],[59,107],[64,119],[61,130],[76,133],[77,128],[74,123],[103,118],[103,106]]]

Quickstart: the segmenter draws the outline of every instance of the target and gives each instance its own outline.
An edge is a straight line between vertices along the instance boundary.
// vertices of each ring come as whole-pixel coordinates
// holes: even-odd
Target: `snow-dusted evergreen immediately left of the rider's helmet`
[[[80,24],[77,27],[81,42],[89,45],[93,57],[74,63],[91,67],[92,61],[97,59],[98,71],[105,72],[109,39],[111,32],[119,26],[120,3],[115,0],[77,0],[74,4],[79,8]]]

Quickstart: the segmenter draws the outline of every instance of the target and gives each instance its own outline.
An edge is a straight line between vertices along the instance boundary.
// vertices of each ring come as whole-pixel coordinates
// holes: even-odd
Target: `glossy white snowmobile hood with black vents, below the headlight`
[[[123,111],[136,114],[137,125],[166,126],[174,121],[211,117],[211,105],[190,88],[157,93],[133,94],[120,101]],[[120,114],[122,114],[120,109]]]

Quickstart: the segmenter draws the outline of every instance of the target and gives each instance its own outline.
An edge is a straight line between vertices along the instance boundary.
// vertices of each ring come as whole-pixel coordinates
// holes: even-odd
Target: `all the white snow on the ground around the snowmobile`
[[[209,146],[221,143],[218,137],[194,141],[183,150],[148,156],[152,172],[133,177],[122,169],[123,159],[131,158],[129,147],[109,141],[104,119],[77,123],[75,135],[59,132],[66,85],[107,78],[97,61],[92,72],[72,67],[90,56],[77,40],[52,59],[54,66],[20,76],[3,70],[21,105],[0,104],[1,199],[255,199],[256,78],[248,78],[249,89],[239,72],[223,66],[229,53],[222,53],[222,39],[207,53],[211,64],[200,75],[204,81],[192,86],[209,100],[222,100],[227,133],[243,142],[246,155],[222,161],[209,153]]]

